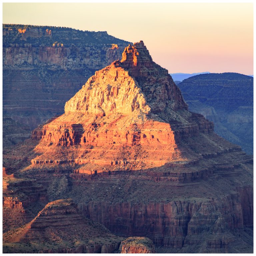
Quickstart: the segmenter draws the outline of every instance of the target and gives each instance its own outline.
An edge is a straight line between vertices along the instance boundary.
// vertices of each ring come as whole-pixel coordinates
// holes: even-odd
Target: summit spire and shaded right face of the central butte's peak
[[[128,69],[129,74],[138,82],[152,113],[163,112],[165,108],[187,109],[179,88],[168,75],[168,70],[152,61],[143,41],[126,47],[118,65]]]

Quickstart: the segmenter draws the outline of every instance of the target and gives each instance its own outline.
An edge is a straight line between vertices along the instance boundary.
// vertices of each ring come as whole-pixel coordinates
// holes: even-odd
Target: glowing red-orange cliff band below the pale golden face
[[[72,114],[73,115],[73,114]],[[70,115],[69,115],[70,116]],[[86,118],[86,116],[85,116]],[[102,120],[101,120],[102,121]],[[86,124],[68,124],[58,128],[58,120],[35,129],[32,132],[32,139],[43,139],[45,142],[55,145],[156,145],[175,144],[175,136],[169,124],[157,121],[145,121],[143,124],[132,123],[120,130],[119,125],[123,120],[111,122]],[[159,134],[159,130],[165,133]],[[178,139],[179,135],[177,135]]]

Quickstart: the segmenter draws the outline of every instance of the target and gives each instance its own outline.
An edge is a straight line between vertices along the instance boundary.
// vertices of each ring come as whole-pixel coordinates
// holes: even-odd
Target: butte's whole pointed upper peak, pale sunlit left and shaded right
[[[141,41],[126,47],[121,61],[97,71],[66,103],[65,112],[105,116],[115,112],[127,114],[138,109],[148,114],[168,107],[187,109],[168,71],[152,61]]]

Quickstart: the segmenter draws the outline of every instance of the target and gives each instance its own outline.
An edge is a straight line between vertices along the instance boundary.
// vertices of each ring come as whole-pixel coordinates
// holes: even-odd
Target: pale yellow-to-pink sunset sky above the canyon
[[[252,3],[3,3],[3,23],[143,40],[169,73],[253,74]]]

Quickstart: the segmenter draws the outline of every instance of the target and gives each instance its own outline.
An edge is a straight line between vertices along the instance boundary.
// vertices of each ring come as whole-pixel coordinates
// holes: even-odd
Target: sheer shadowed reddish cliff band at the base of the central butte
[[[242,193],[246,193],[247,189],[243,189]],[[114,205],[90,202],[85,208],[81,207],[81,211],[113,232],[147,236],[152,239],[156,247],[174,248],[173,252],[191,251],[190,245],[195,244],[198,246],[196,249],[198,252],[230,252],[236,251],[234,248],[239,249],[246,245],[246,241],[238,239],[233,232],[253,225],[252,211],[248,207],[248,204],[253,205],[252,190],[249,193],[249,197],[241,196],[240,193],[222,197],[221,204],[209,198],[194,198],[189,201],[185,198],[175,199],[169,203],[125,202]],[[165,195],[168,197],[170,193],[167,192]],[[242,200],[247,205],[245,208]],[[95,212],[98,214],[94,214]],[[247,221],[247,214],[250,215],[250,223]],[[230,241],[225,240],[225,233]],[[215,247],[208,245],[213,237],[218,243]],[[207,244],[204,245],[200,241]],[[232,245],[231,242],[234,241],[237,247]],[[248,248],[247,251],[249,250]]]

